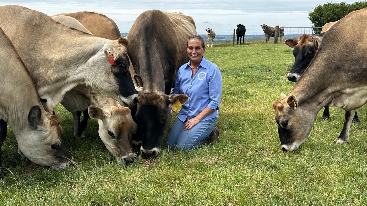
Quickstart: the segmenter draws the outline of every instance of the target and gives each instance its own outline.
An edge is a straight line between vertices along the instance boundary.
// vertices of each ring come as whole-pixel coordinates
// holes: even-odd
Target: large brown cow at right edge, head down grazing
[[[325,105],[350,111],[345,115],[346,136],[334,143],[348,142],[355,109],[367,102],[366,26],[367,8],[335,23],[324,33],[315,58],[289,95],[282,93],[282,100],[273,102],[283,151],[293,151],[306,141],[316,114]]]

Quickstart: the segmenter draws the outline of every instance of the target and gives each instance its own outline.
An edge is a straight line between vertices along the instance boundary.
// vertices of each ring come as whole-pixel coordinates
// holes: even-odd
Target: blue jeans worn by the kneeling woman
[[[182,151],[199,147],[209,137],[209,134],[217,124],[217,118],[200,121],[190,130],[182,130],[185,122],[176,118],[167,138],[166,147],[174,149],[178,147]]]

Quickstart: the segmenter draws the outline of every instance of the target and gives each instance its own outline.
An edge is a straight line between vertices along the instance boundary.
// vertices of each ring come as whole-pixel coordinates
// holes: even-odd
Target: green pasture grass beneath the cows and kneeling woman
[[[223,78],[219,144],[163,149],[155,159],[119,165],[98,138],[96,121],[77,141],[72,115],[58,106],[75,164],[51,170],[21,160],[9,129],[0,205],[366,205],[366,108],[358,110],[349,144],[332,144],[344,121],[333,107],[328,121],[319,113],[297,151],[282,152],[271,103],[293,87],[286,75],[294,58],[286,45],[264,42],[206,49]]]

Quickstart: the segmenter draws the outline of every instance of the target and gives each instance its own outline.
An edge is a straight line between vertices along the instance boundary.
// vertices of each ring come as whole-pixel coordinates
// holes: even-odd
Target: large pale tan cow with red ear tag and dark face
[[[126,39],[94,37],[25,7],[2,6],[0,13],[0,27],[28,68],[47,111],[54,110],[65,93],[78,84],[120,104],[133,106],[138,102],[128,71]]]

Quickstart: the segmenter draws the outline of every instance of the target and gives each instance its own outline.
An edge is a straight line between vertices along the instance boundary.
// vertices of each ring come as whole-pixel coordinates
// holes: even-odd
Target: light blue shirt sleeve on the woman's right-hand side
[[[209,108],[213,110],[219,110],[219,104],[221,103],[222,96],[222,75],[218,67],[212,70],[213,72],[209,78]]]

